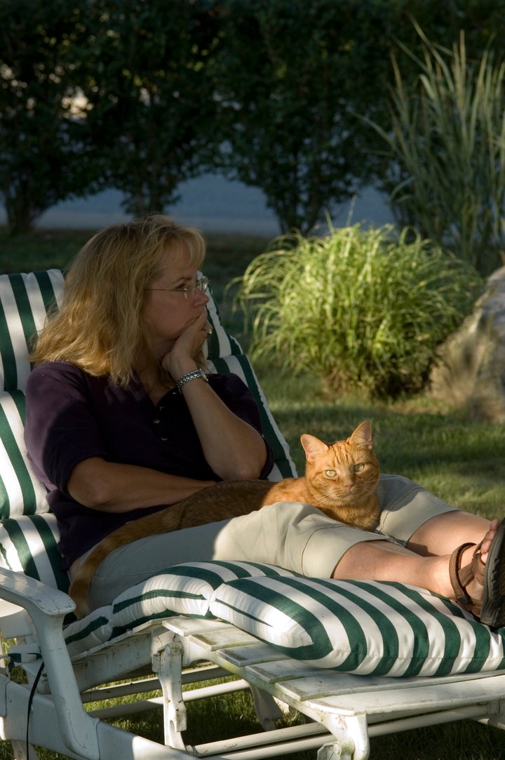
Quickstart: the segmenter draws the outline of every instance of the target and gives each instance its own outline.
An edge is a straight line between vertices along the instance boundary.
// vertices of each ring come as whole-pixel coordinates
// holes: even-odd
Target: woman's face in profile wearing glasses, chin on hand
[[[150,348],[159,358],[190,327],[205,309],[209,297],[196,287],[197,268],[190,263],[188,249],[173,261],[166,256],[159,274],[151,281],[144,319],[149,328]]]

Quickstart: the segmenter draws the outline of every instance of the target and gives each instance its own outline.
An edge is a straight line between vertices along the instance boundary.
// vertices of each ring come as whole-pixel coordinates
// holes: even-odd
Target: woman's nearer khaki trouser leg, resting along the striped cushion
[[[90,584],[90,606],[109,604],[118,594],[170,565],[211,559],[278,565],[314,578],[330,578],[352,543],[385,543],[381,536],[337,523],[319,509],[282,502],[231,520],[141,538],[100,563]],[[87,555],[82,556],[81,562]],[[73,566],[73,575],[78,563]]]

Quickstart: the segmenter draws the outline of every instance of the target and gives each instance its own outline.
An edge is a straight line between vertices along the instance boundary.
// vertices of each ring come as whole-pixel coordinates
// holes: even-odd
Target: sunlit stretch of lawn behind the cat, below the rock
[[[409,413],[405,401],[370,404],[331,396],[320,378],[307,372],[271,372],[264,363],[256,369],[298,472],[305,467],[302,432],[332,442],[371,420],[383,472],[410,477],[441,499],[490,519],[505,512],[502,424],[471,420],[464,410],[443,411],[439,402],[421,394]]]

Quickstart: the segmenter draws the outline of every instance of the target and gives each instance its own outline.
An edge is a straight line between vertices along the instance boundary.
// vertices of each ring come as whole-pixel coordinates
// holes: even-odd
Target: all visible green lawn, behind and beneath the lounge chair
[[[92,234],[90,230],[39,230],[29,236],[10,237],[0,229],[0,271],[65,268]],[[262,252],[268,240],[237,235],[207,236],[206,274],[210,277],[225,325],[242,334],[241,315],[234,311],[232,290],[226,284],[245,271],[251,258]],[[443,499],[492,518],[503,515],[505,464],[503,425],[472,420],[467,410],[448,410],[425,394],[394,403],[365,403],[355,397],[336,397],[324,382],[305,372],[294,375],[281,368],[255,366],[273,415],[289,442],[298,471],[304,460],[298,439],[311,432],[333,441],[346,437],[361,420],[371,420],[374,445],[383,472],[401,473],[422,483]],[[210,739],[219,733],[232,735],[240,726],[245,733],[257,730],[250,703],[242,696],[193,702],[188,707],[188,743]],[[131,730],[159,735],[160,715],[131,720]],[[43,760],[61,757],[41,752]],[[316,752],[295,755],[314,760]],[[505,757],[505,735],[472,721],[397,733],[371,740],[374,760],[500,760]],[[0,746],[0,760],[11,760],[8,743]]]

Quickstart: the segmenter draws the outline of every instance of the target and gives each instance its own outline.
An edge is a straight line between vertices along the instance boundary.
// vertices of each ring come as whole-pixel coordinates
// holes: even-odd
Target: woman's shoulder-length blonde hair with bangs
[[[166,266],[167,254],[175,263],[185,250],[200,268],[203,236],[161,214],[96,233],[74,258],[62,308],[50,316],[30,359],[70,362],[90,375],[109,375],[115,384],[128,385],[137,351],[145,344],[146,288]]]

